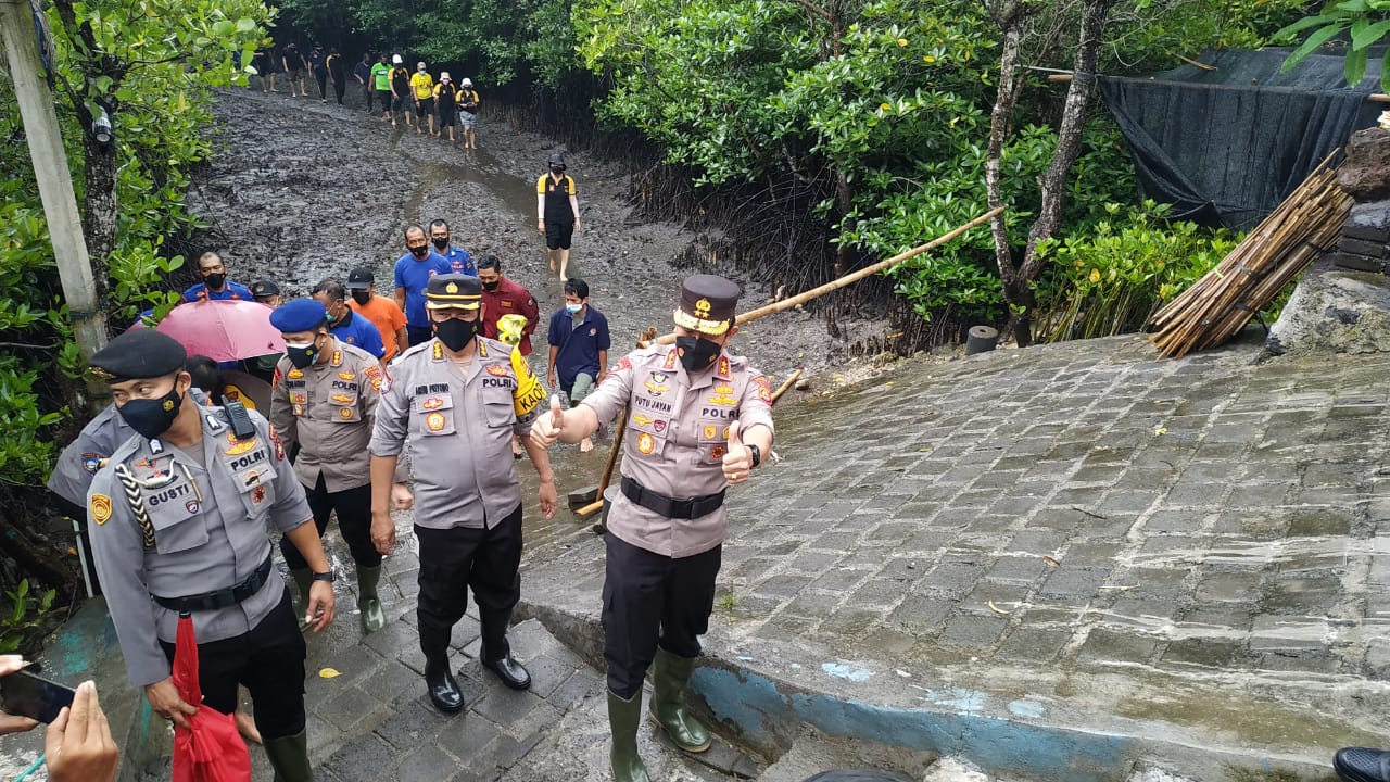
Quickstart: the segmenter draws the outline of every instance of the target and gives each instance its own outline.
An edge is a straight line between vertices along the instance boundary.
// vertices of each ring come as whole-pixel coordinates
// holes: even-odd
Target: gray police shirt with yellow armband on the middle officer
[[[512,436],[527,437],[545,385],[512,345],[475,338],[466,365],[438,340],[391,365],[371,436],[374,456],[410,442],[416,523],[428,529],[495,527],[521,502]]]

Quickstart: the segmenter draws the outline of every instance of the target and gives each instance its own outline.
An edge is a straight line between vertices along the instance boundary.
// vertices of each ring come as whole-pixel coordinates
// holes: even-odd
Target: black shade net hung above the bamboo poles
[[[1101,95],[1129,143],[1143,198],[1172,217],[1255,227],[1357,129],[1390,106],[1377,92],[1380,57],[1348,88],[1341,56],[1314,54],[1279,72],[1289,49],[1220,50],[1144,78],[1101,77]]]

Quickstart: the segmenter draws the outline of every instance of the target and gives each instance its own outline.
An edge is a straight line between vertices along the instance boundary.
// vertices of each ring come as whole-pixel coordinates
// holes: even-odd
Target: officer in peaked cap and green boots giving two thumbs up
[[[645,782],[637,754],[642,678],[652,667],[652,718],[677,746],[709,749],[709,732],[682,703],[709,628],[714,576],[728,526],[724,493],[748,480],[773,444],[767,378],[728,352],[739,289],[696,274],[681,284],[676,345],[619,360],[578,406],[550,413],[531,440],[578,442],[628,405],[623,493],[607,516],[603,658],[610,760],[617,782]]]

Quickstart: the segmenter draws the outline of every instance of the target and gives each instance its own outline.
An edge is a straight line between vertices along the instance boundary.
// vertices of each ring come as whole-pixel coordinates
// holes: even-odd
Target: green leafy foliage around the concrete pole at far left
[[[93,262],[107,273],[103,308],[121,328],[142,309],[172,306],[164,280],[183,259],[164,245],[200,227],[185,192],[189,171],[211,154],[211,88],[245,83],[232,56],[250,61],[272,13],[259,0],[56,0],[47,14],[58,120],[86,203],[86,128],[111,110],[114,242]],[[11,89],[0,81],[0,483],[39,486],[70,413],[60,390],[81,377],[82,360]],[[83,214],[89,244],[104,218]]]

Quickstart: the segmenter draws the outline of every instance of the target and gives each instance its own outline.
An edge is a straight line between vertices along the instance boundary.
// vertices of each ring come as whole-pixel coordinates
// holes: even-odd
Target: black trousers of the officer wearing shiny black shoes
[[[420,596],[416,618],[420,651],[441,664],[449,636],[468,607],[468,589],[482,621],[482,658],[500,660],[512,651],[507,625],[521,597],[521,505],[488,529],[436,530],[416,526],[420,540]]]

